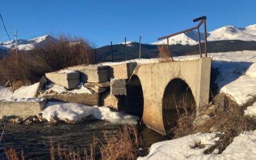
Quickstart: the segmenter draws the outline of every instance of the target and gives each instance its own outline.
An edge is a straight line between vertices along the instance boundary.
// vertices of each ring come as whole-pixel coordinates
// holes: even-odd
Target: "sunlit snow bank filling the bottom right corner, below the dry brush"
[[[222,154],[204,154],[206,148],[211,147],[218,140],[218,133],[192,134],[175,140],[161,141],[150,147],[146,157],[138,159],[255,159],[256,131],[243,132]],[[196,143],[205,145],[205,148],[195,148]]]

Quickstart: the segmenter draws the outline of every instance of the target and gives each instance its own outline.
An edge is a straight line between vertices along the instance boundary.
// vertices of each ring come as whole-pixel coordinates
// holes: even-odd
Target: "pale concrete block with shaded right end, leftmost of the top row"
[[[67,89],[74,89],[80,83],[79,72],[51,72],[45,74],[52,83],[64,86]]]

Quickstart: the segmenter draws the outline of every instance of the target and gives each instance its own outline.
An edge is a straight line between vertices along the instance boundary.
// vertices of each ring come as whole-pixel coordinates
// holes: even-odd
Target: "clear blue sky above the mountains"
[[[46,34],[82,36],[97,47],[138,41],[156,42],[159,36],[195,26],[193,19],[207,16],[207,31],[221,26],[256,24],[256,1],[152,1],[152,0],[0,0],[0,13],[14,38]],[[0,41],[8,40],[0,24]]]

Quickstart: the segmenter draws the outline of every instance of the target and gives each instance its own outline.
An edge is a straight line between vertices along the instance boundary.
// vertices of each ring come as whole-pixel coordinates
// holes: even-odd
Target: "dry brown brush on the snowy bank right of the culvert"
[[[256,102],[256,97],[253,96],[243,106],[238,106],[230,99],[226,100],[228,102],[225,105],[228,105],[228,108],[225,110],[222,109],[219,111],[216,108],[211,110],[209,106],[205,106],[206,109],[203,109],[200,113],[208,114],[210,118],[200,125],[193,125],[196,118],[195,112],[178,114],[179,120],[177,121],[177,127],[172,129],[174,138],[180,138],[196,132],[223,132],[223,134],[220,134],[220,140],[216,142],[216,145],[205,150],[205,154],[211,154],[214,150],[218,149],[218,154],[221,154],[241,132],[255,130],[256,116],[243,114],[244,109],[250,106],[250,104],[253,104],[253,102]]]

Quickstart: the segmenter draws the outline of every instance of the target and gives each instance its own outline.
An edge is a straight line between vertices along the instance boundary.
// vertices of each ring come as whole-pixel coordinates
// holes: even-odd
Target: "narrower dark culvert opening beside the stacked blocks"
[[[133,75],[127,84],[128,108],[126,112],[132,115],[143,115],[143,90],[138,76]]]

